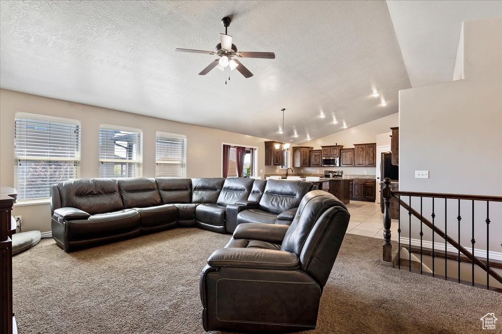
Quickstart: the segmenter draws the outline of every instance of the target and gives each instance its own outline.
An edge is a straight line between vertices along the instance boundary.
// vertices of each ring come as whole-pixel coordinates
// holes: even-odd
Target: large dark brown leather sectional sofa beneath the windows
[[[175,226],[232,233],[241,223],[289,225],[315,188],[248,178],[69,180],[51,187],[52,236],[70,252]]]

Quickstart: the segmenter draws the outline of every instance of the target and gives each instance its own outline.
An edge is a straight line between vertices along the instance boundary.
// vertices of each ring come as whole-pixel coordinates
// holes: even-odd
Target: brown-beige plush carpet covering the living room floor
[[[204,333],[199,273],[229,238],[177,228],[74,253],[42,239],[13,259],[19,332]],[[381,256],[381,239],[345,236],[311,333],[471,333],[488,312],[502,319],[502,294],[382,267]]]

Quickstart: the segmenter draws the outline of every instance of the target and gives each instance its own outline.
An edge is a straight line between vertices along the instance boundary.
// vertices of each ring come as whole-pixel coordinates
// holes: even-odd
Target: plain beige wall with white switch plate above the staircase
[[[457,60],[463,61],[464,80],[400,91],[402,191],[502,195],[502,19],[466,22],[462,31],[458,50],[464,54]],[[429,179],[416,179],[416,170],[428,170]],[[500,222],[501,204],[490,206],[492,222]],[[470,247],[470,203],[465,206],[461,243]],[[456,208],[454,202],[448,206],[451,236],[456,235],[450,232],[457,228]],[[444,230],[440,215],[436,212],[436,224]],[[476,248],[481,249],[486,247],[485,215],[486,204],[476,205]],[[412,237],[420,238],[417,233]],[[490,250],[500,251],[501,236],[502,224],[490,224]]]

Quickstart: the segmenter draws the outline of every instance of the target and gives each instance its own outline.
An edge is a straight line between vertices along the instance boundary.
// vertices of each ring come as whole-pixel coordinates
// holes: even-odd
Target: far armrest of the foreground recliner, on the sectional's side
[[[233,232],[234,239],[252,239],[281,244],[288,225],[244,223],[239,224]]]

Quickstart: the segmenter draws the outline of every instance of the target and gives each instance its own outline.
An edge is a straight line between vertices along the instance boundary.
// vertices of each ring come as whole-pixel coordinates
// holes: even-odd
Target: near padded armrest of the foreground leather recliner
[[[212,267],[298,269],[300,259],[294,253],[261,248],[221,248],[207,259]]]

